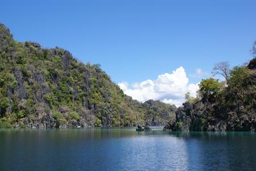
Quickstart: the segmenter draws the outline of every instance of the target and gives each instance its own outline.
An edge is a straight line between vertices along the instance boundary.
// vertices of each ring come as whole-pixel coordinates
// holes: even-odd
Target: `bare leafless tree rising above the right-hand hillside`
[[[212,74],[213,76],[216,76],[217,74],[223,76],[228,82],[229,80],[229,72],[230,72],[230,65],[229,62],[218,62],[218,64],[215,64],[213,67]]]

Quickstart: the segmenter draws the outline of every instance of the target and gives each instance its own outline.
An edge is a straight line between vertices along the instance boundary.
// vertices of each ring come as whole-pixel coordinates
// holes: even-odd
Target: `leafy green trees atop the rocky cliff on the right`
[[[233,109],[237,103],[251,107],[256,95],[254,71],[246,66],[235,66],[229,71],[226,83],[208,78],[200,82],[198,91],[202,101]]]

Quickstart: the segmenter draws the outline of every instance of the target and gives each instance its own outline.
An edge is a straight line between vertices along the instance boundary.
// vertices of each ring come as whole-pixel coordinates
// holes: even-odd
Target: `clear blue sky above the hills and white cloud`
[[[251,59],[256,1],[1,1],[18,41],[68,49],[116,83],[156,80],[182,66],[189,83],[213,65]],[[196,69],[201,70],[196,76]],[[197,74],[198,75],[198,74]]]

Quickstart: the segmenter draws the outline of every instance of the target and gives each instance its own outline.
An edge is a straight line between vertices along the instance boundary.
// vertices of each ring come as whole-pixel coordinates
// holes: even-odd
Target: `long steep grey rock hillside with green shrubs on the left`
[[[175,106],[123,94],[100,65],[70,52],[13,40],[0,24],[0,127],[159,126]]]

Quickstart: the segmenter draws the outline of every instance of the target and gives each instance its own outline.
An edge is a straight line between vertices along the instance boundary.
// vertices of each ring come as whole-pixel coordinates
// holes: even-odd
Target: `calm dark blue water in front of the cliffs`
[[[0,130],[0,170],[256,170],[255,132]]]

